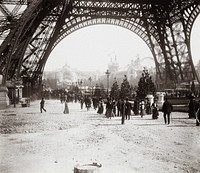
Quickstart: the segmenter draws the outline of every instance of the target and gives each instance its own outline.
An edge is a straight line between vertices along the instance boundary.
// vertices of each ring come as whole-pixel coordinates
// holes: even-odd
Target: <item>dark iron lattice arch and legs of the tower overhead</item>
[[[6,2],[10,1],[1,1],[1,7]],[[15,3],[27,5],[27,8],[21,14],[11,15],[15,23],[7,17],[0,26],[1,36],[7,33],[0,47],[0,71],[5,76],[4,82],[21,76],[36,81],[42,75],[50,53],[63,38],[96,24],[121,26],[141,37],[153,54],[158,83],[198,81],[190,49],[192,26],[200,13],[197,0],[36,0],[29,4],[27,1]],[[17,26],[11,27],[14,24]]]

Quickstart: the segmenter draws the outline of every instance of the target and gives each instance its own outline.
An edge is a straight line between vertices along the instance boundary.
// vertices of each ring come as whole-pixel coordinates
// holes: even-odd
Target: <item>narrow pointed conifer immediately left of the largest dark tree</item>
[[[130,89],[131,89],[131,86],[127,80],[126,75],[124,75],[124,79],[121,84],[120,98],[126,99],[126,97],[130,97],[131,96]]]

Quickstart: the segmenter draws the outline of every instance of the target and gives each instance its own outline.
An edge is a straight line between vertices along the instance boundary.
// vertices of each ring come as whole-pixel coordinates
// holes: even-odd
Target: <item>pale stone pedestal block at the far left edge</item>
[[[8,89],[0,85],[0,109],[6,109],[9,106]]]

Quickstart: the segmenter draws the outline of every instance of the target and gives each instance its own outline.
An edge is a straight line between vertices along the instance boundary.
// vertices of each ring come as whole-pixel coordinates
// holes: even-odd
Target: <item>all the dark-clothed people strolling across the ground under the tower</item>
[[[189,101],[189,118],[195,118],[196,119],[196,125],[199,126],[199,120],[200,120],[200,101],[197,102],[194,96],[190,96]],[[121,124],[125,124],[125,120],[130,120],[131,115],[140,115],[143,117],[145,114],[152,115],[152,119],[158,119],[159,116],[159,108],[157,105],[157,100],[154,99],[154,102],[151,103],[150,100],[147,98],[144,101],[139,101],[138,99],[135,99],[134,101],[130,101],[128,98],[126,99],[118,99],[115,100],[113,98],[91,98],[90,96],[80,97],[76,102],[79,101],[81,105],[81,109],[85,108],[87,111],[90,110],[90,108],[94,108],[97,110],[98,114],[105,114],[107,118],[112,118],[115,116],[121,117]],[[68,102],[69,99],[67,96],[64,97],[64,99],[61,99],[61,103],[65,103],[64,105],[64,114],[69,114],[69,108],[68,108]],[[44,108],[44,98],[42,98],[40,102],[40,111],[46,112],[46,109]],[[105,106],[104,106],[105,105]],[[162,105],[161,111],[163,112],[164,117],[164,123],[170,124],[170,115],[173,111],[173,106],[171,102],[168,100],[167,97],[165,97],[164,103]]]

